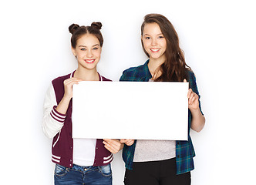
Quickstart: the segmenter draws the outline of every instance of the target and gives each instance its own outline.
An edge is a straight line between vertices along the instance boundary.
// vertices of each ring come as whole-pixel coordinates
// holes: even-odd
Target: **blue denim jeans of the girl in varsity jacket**
[[[72,168],[56,164],[54,173],[55,185],[112,185],[112,170],[110,164],[101,167],[80,167],[76,164]]]

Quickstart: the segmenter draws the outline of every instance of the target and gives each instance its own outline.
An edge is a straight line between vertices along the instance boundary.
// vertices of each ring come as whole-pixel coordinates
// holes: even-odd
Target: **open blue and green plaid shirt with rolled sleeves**
[[[120,78],[120,81],[136,81],[136,82],[148,82],[152,78],[150,70],[148,69],[148,62],[138,67],[126,69]],[[197,83],[193,72],[189,71],[189,83],[190,88],[194,93],[197,93]],[[199,96],[200,98],[200,96]],[[200,107],[200,101],[199,101]],[[200,108],[201,109],[201,108]],[[194,170],[195,156],[194,147],[190,138],[190,127],[191,127],[191,112],[188,109],[188,140],[187,141],[176,141],[176,164],[177,164],[177,175],[181,173],[187,173],[190,170]],[[123,160],[126,163],[126,168],[129,170],[133,169],[133,156],[136,146],[136,140],[132,146],[123,147]]]

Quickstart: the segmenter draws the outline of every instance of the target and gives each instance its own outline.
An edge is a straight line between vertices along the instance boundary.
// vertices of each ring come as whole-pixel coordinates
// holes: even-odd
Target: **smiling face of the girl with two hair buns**
[[[77,40],[76,48],[72,53],[78,61],[78,68],[96,69],[100,59],[101,47],[95,35],[85,34]]]

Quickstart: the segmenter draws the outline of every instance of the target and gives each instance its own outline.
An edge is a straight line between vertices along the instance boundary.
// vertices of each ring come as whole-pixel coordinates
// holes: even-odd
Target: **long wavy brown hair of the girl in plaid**
[[[184,58],[184,52],[180,49],[179,38],[177,32],[175,31],[173,25],[170,21],[163,15],[160,14],[148,14],[144,17],[144,22],[141,25],[141,35],[143,36],[144,26],[148,23],[157,23],[163,34],[163,37],[167,42],[167,49],[164,55],[166,56],[166,61],[160,66],[157,72],[161,72],[159,76],[154,81],[157,82],[183,82],[187,79],[188,82],[188,70],[190,66],[187,66]],[[148,57],[150,55],[144,49],[143,50]]]

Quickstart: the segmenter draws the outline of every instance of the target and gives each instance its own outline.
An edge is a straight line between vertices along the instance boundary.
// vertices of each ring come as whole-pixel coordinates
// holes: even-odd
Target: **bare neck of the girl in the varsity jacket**
[[[83,81],[99,81],[99,74],[95,69],[81,69],[78,67],[74,76],[78,79],[82,79]]]

